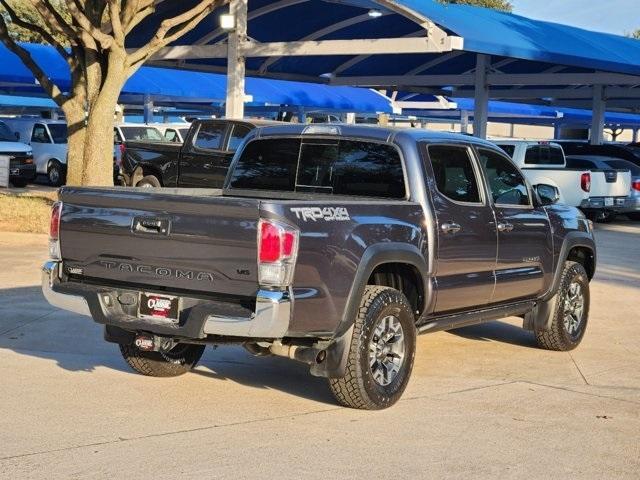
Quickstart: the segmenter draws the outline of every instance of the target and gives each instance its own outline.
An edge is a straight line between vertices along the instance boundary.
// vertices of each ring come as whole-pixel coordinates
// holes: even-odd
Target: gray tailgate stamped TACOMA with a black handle
[[[60,192],[66,273],[98,284],[250,296],[260,201],[216,190]]]

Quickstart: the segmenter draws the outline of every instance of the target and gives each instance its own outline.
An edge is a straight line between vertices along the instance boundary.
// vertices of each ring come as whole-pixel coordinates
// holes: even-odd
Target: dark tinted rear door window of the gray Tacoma
[[[427,147],[438,191],[454,202],[481,203],[478,178],[466,147]]]

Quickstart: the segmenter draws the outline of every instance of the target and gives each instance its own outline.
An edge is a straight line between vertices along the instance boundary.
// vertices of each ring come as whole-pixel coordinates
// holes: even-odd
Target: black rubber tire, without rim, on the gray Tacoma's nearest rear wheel
[[[375,341],[376,327],[390,316],[396,319],[396,326],[399,321],[402,327],[400,332],[404,337],[404,354],[395,376],[388,384],[383,385],[376,379],[373,367],[370,366],[369,347]],[[415,319],[407,298],[393,288],[368,285],[355,319],[345,375],[329,379],[331,392],[346,407],[362,410],[388,408],[400,399],[409,383],[415,350]],[[381,352],[381,355],[393,356],[385,352]],[[378,361],[374,364],[378,365]],[[388,373],[387,369],[382,371]]]

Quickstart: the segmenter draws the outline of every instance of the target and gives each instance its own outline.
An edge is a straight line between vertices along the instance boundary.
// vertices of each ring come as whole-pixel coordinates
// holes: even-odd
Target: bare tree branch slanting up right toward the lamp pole
[[[144,47],[140,47],[129,56],[129,68],[134,72],[142,63],[147,61],[158,50],[183,36],[198,25],[215,7],[223,2],[216,0],[202,0],[195,7],[173,18],[160,23],[158,31]]]

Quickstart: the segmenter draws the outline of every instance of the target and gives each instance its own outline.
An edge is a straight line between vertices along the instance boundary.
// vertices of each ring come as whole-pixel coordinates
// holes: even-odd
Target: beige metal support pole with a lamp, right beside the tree
[[[232,0],[229,5],[229,13],[234,15],[236,25],[235,29],[229,32],[227,42],[227,118],[244,117],[245,57],[242,47],[247,42],[247,1]]]

